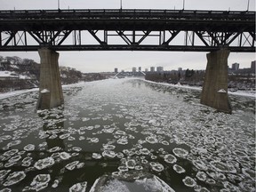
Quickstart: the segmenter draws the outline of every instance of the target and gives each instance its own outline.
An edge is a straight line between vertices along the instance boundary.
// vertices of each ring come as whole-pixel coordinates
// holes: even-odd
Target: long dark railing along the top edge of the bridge
[[[35,19],[255,20],[255,12],[193,10],[17,10],[0,11],[0,20]]]

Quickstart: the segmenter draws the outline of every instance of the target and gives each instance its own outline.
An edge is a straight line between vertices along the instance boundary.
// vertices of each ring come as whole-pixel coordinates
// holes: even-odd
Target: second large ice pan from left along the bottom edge
[[[48,187],[48,183],[51,180],[50,174],[38,174],[31,182],[32,189],[39,191]]]

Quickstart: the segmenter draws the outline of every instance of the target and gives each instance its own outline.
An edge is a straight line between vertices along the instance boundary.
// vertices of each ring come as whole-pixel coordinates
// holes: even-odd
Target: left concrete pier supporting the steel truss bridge
[[[39,49],[38,52],[41,65],[36,109],[55,108],[64,103],[60,84],[59,53],[47,48]]]

